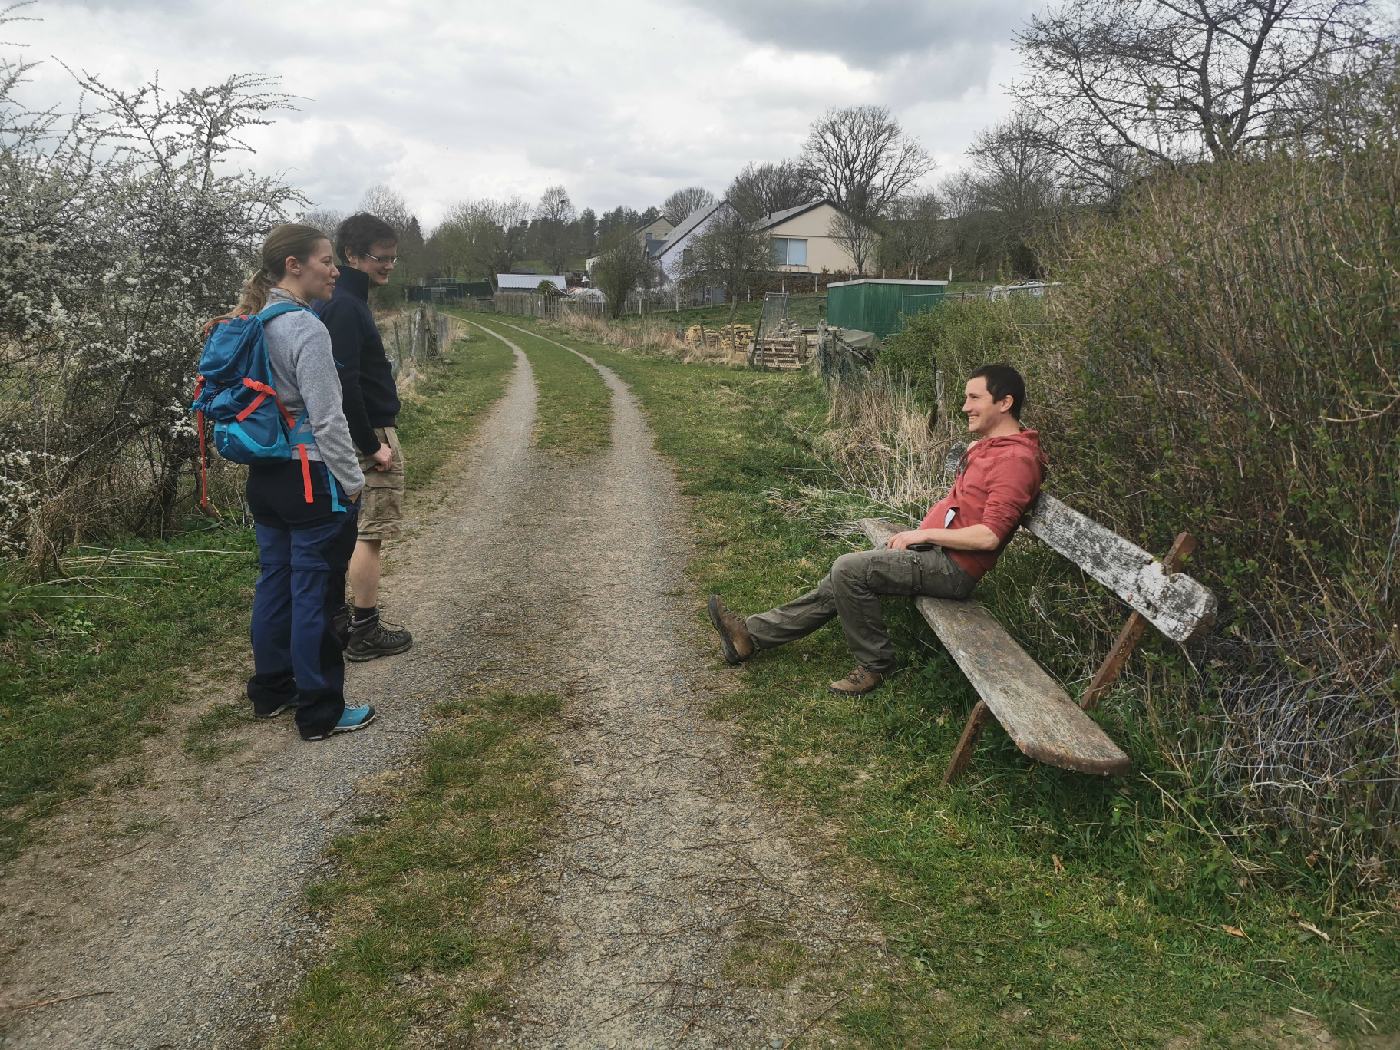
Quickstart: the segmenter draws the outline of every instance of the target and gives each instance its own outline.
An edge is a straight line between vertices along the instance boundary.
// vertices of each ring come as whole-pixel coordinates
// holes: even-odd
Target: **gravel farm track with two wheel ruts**
[[[350,669],[381,722],[314,746],[286,721],[242,725],[246,746],[213,766],[168,732],[108,773],[139,783],[50,819],[0,881],[0,1044],[259,1042],[315,958],[301,888],[328,844],[412,760],[434,704],[482,686],[567,697],[557,833],[497,902],[542,949],[483,1043],[781,1046],[830,1022],[826,974],[883,959],[703,714],[724,679],[683,575],[683,503],[631,393],[599,368],[610,449],[532,449],[531,368],[490,323],[515,351],[510,386],[413,501],[386,581],[417,643]],[[209,699],[178,708],[176,729],[238,699],[228,680],[190,692]],[[777,987],[729,976],[755,931],[805,960]]]

